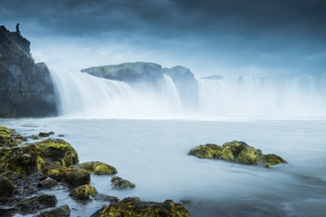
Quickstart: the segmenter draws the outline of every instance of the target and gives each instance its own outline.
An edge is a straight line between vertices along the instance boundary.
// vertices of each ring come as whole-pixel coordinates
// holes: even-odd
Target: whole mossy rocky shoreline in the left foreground
[[[46,189],[63,190],[74,200],[101,200],[108,205],[91,216],[190,216],[187,209],[171,200],[164,203],[142,202],[139,198],[119,198],[98,193],[90,184],[94,175],[115,175],[118,170],[101,162],[79,164],[77,151],[59,138],[45,138],[53,133],[22,137],[7,127],[0,127],[0,216],[34,214],[70,216],[68,204],[56,206],[53,194]],[[42,141],[27,143],[28,138]],[[114,188],[136,187],[128,180],[113,176]]]

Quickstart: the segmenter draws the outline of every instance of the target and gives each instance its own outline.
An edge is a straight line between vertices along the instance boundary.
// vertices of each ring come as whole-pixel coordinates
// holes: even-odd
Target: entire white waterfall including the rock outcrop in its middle
[[[326,74],[213,76],[147,62],[52,71],[72,118],[323,118]]]

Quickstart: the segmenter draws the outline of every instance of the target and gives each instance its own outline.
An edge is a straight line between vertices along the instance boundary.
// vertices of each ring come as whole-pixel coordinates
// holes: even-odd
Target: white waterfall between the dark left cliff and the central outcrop
[[[158,90],[131,88],[117,80],[79,71],[51,71],[60,114],[72,118],[162,118],[181,112],[177,88],[164,75]]]

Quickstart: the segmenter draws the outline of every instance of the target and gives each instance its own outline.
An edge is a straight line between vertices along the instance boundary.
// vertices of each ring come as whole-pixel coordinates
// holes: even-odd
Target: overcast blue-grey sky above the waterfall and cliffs
[[[184,65],[197,77],[326,72],[323,0],[1,0],[0,24],[36,61],[85,67]]]

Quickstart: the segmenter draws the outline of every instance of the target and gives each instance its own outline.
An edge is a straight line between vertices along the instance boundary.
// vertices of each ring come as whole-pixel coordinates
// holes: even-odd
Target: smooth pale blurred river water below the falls
[[[9,118],[0,125],[24,136],[40,131],[63,134],[80,161],[114,165],[136,184],[113,190],[110,175],[92,175],[99,193],[139,196],[145,201],[186,201],[192,216],[324,216],[326,213],[326,120],[137,120]],[[242,140],[289,165],[272,169],[187,156],[198,145]],[[68,203],[72,216],[89,216],[105,203]]]

